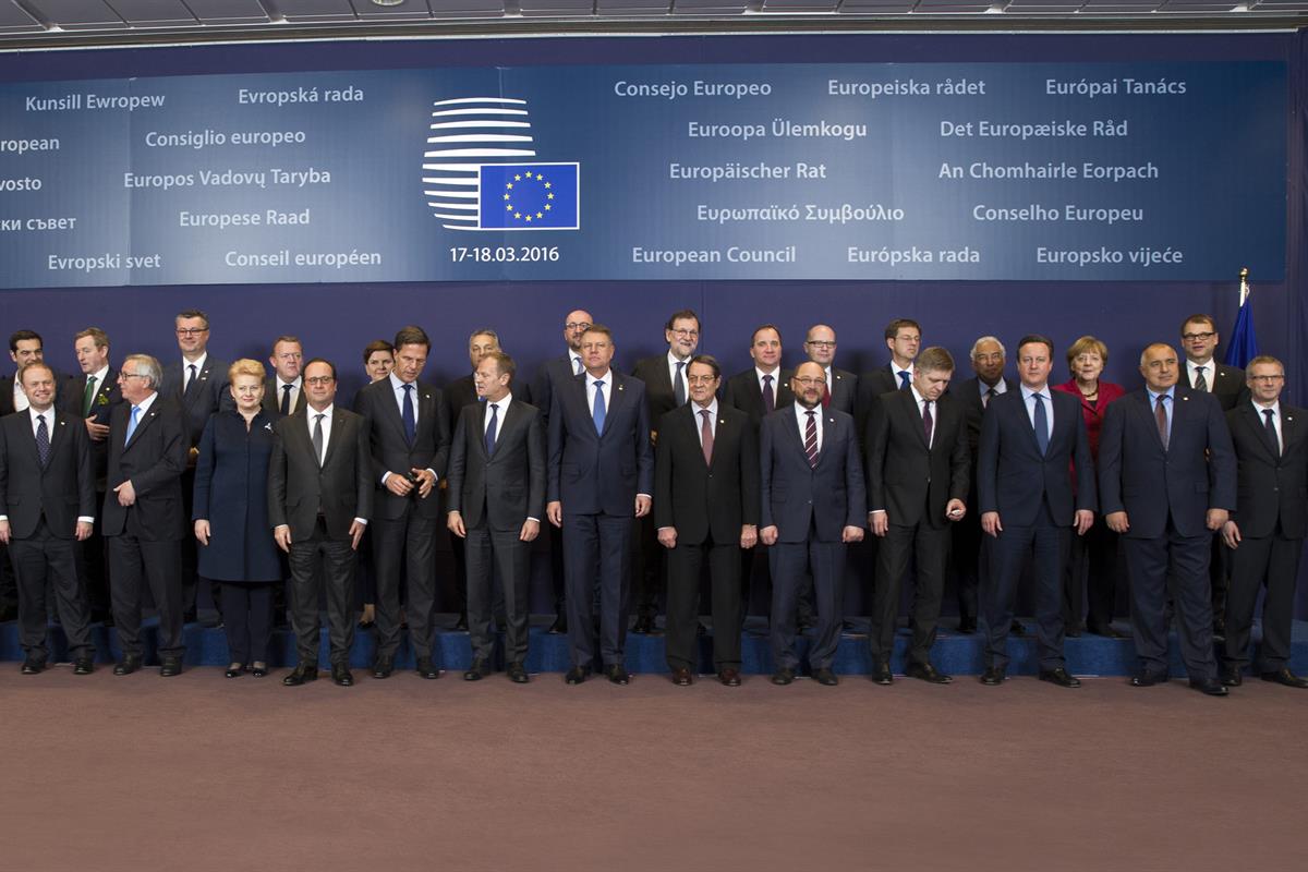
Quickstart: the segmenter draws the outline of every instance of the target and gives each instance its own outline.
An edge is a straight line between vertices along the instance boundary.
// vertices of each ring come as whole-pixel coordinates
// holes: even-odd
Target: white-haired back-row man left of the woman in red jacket
[[[950,394],[957,396],[967,417],[968,429],[968,456],[971,459],[972,482],[968,493],[972,501],[977,497],[977,452],[981,446],[981,418],[985,416],[986,405],[999,394],[1014,391],[1018,383],[1005,377],[1003,367],[1006,352],[1003,343],[994,336],[982,336],[972,344],[972,370],[973,378],[959,384],[954,384]],[[981,578],[989,573],[990,537],[981,535],[981,515],[972,511],[963,516],[963,520],[954,524],[954,544],[951,558],[954,562],[955,596],[959,603],[959,633],[976,633],[977,630],[977,590]],[[1020,634],[1022,625],[1014,621],[1012,631]]]

